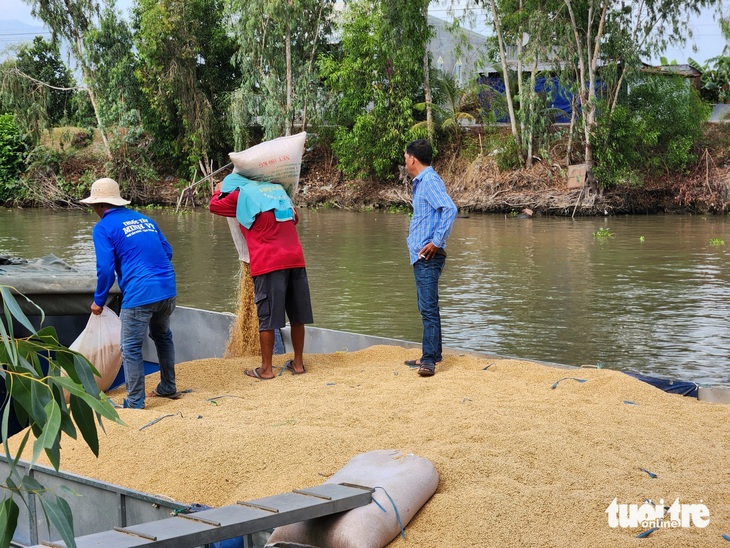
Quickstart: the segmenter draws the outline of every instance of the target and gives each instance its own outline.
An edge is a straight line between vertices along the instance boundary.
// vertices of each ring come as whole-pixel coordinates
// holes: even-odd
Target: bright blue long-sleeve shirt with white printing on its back
[[[177,294],[172,246],[152,219],[126,207],[114,207],[94,226],[92,236],[97,305],[106,303],[115,277],[122,290],[122,308],[155,303]]]

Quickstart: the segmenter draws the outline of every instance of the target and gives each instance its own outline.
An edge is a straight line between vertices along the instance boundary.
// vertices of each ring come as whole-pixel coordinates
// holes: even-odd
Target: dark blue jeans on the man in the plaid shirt
[[[435,255],[429,260],[419,259],[413,263],[418,311],[423,320],[422,364],[435,364],[442,359],[439,278],[445,264],[446,256],[444,255]]]

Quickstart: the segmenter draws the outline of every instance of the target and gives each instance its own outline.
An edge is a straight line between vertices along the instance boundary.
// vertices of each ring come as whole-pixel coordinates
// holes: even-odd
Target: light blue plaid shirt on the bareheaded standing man
[[[456,214],[444,182],[431,166],[413,178],[413,217],[406,240],[411,264],[418,260],[418,252],[429,242],[446,247]]]

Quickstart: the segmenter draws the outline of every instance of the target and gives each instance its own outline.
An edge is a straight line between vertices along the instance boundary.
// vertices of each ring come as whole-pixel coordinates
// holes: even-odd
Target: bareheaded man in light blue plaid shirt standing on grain
[[[423,320],[420,360],[406,365],[418,366],[418,374],[431,377],[441,355],[441,315],[438,304],[438,281],[446,264],[446,239],[454,226],[457,209],[446,193],[441,177],[431,167],[433,149],[424,139],[406,147],[405,163],[413,177],[413,217],[408,231],[408,252],[416,277],[418,311]]]

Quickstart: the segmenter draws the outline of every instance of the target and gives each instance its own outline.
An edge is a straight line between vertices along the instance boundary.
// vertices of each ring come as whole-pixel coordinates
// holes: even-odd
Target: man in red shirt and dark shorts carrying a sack
[[[232,173],[215,187],[210,211],[236,217],[251,258],[256,312],[259,318],[261,367],[245,374],[261,380],[274,378],[274,330],[291,325],[294,359],[284,366],[295,375],[305,373],[304,325],[314,322],[304,252],[297,234],[299,218],[281,185],[248,180]]]

